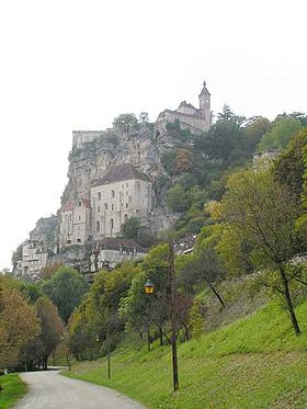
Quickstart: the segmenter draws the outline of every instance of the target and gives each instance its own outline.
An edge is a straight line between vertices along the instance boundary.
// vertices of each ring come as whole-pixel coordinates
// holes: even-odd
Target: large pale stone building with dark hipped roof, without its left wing
[[[116,237],[129,217],[148,218],[152,183],[147,174],[124,163],[112,168],[91,188],[92,237]]]

